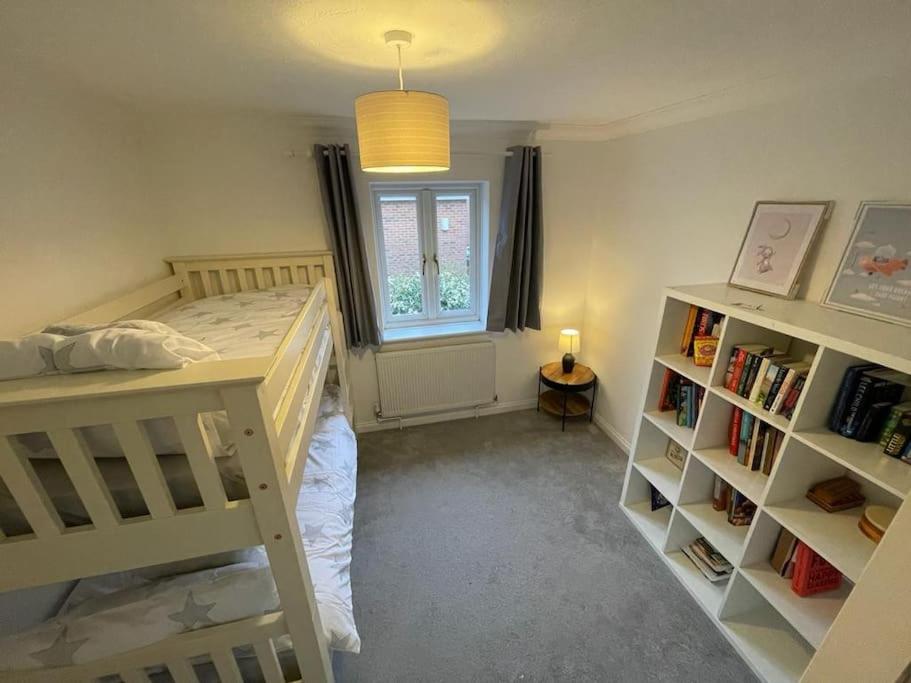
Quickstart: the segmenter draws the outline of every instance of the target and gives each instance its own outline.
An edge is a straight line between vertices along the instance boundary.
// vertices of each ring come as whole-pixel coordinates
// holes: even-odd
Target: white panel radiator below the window
[[[376,354],[382,417],[403,417],[496,400],[493,342]]]

